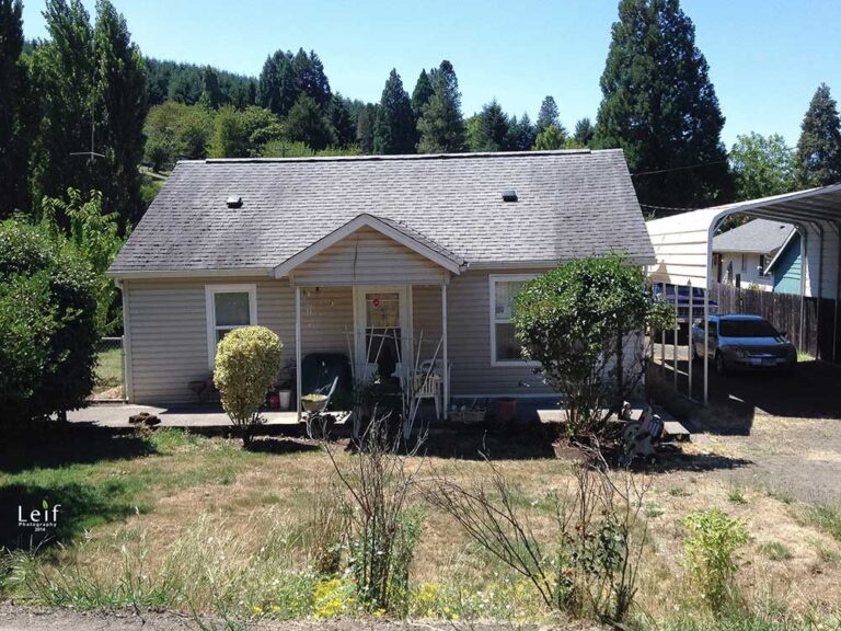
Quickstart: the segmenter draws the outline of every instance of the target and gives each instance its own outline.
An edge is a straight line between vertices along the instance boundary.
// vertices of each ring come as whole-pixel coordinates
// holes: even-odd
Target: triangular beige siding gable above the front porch
[[[440,284],[446,271],[369,227],[296,267],[297,285]]]

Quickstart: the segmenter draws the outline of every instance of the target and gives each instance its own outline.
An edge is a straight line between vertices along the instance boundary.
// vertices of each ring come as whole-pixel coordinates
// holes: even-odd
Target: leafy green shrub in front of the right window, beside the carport
[[[564,393],[571,434],[601,433],[643,375],[642,345],[629,349],[629,336],[668,312],[653,302],[643,269],[615,254],[566,263],[525,286],[515,301],[517,337]]]

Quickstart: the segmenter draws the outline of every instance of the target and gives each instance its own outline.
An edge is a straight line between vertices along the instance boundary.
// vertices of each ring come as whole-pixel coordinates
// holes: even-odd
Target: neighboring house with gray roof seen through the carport
[[[774,289],[770,264],[792,234],[794,226],[770,219],[752,219],[713,239],[713,276],[718,283]],[[797,288],[799,292],[799,285]]]

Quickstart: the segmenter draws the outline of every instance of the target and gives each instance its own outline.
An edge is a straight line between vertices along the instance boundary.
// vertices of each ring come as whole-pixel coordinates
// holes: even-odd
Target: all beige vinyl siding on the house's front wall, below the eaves
[[[517,274],[540,273],[541,269]],[[491,302],[488,275],[503,269],[468,271],[448,286],[451,392],[464,394],[550,393],[526,366],[491,365]],[[515,272],[511,272],[515,273]],[[391,276],[391,283],[395,277]],[[295,289],[287,279],[206,278],[126,280],[130,352],[128,360],[133,401],[188,403],[189,381],[209,376],[207,347],[207,285],[256,284],[257,324],[267,326],[284,343],[284,364],[295,358]],[[353,330],[353,288],[326,285],[302,288],[302,353],[347,353],[345,330]],[[441,288],[418,284],[412,288],[415,339],[424,332],[422,358],[429,358],[441,335]],[[531,385],[522,388],[520,381]]]

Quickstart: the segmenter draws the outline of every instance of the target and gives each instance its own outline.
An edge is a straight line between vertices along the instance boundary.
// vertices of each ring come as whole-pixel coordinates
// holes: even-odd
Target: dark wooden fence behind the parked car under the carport
[[[710,299],[718,302],[718,313],[762,316],[777,331],[785,333],[798,352],[841,364],[841,312],[837,313],[836,300],[800,300],[800,297],[794,294],[776,294],[716,283],[710,291]]]

